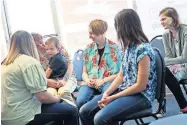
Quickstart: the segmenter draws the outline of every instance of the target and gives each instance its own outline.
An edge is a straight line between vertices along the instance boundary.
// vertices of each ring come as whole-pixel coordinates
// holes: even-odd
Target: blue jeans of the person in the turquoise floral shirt
[[[76,99],[76,105],[78,109],[80,109],[81,106],[91,100],[94,95],[104,93],[108,89],[110,84],[110,82],[107,82],[99,89],[90,88],[87,85],[81,86]]]

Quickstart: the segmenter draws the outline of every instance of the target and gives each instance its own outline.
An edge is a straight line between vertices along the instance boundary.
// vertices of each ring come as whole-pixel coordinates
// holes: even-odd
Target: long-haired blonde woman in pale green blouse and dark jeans
[[[32,36],[13,34],[1,63],[1,121],[4,125],[78,125],[76,107],[46,91],[47,80]]]

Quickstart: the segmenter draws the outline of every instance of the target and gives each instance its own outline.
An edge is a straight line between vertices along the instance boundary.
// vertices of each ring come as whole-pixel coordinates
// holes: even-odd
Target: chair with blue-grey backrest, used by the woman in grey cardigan
[[[164,44],[162,42],[162,35],[155,36],[151,42],[150,42],[152,47],[156,47],[159,49],[161,55],[165,57],[165,50],[164,50]],[[179,84],[183,87],[185,93],[187,94],[187,79],[182,79],[179,81]]]

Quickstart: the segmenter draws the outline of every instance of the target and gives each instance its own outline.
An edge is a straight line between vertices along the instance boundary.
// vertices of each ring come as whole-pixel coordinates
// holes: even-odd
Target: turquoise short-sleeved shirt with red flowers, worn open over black
[[[84,51],[84,66],[89,78],[102,79],[117,74],[120,70],[120,54],[116,43],[106,40],[105,49],[99,63],[99,53],[96,43],[91,43]]]

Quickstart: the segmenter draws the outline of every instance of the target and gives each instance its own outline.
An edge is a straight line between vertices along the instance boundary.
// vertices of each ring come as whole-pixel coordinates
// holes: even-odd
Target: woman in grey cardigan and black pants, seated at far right
[[[165,83],[175,96],[181,112],[187,112],[187,101],[181,91],[179,80],[187,78],[187,26],[180,24],[177,11],[172,7],[164,8],[160,14],[164,29],[166,77]]]

